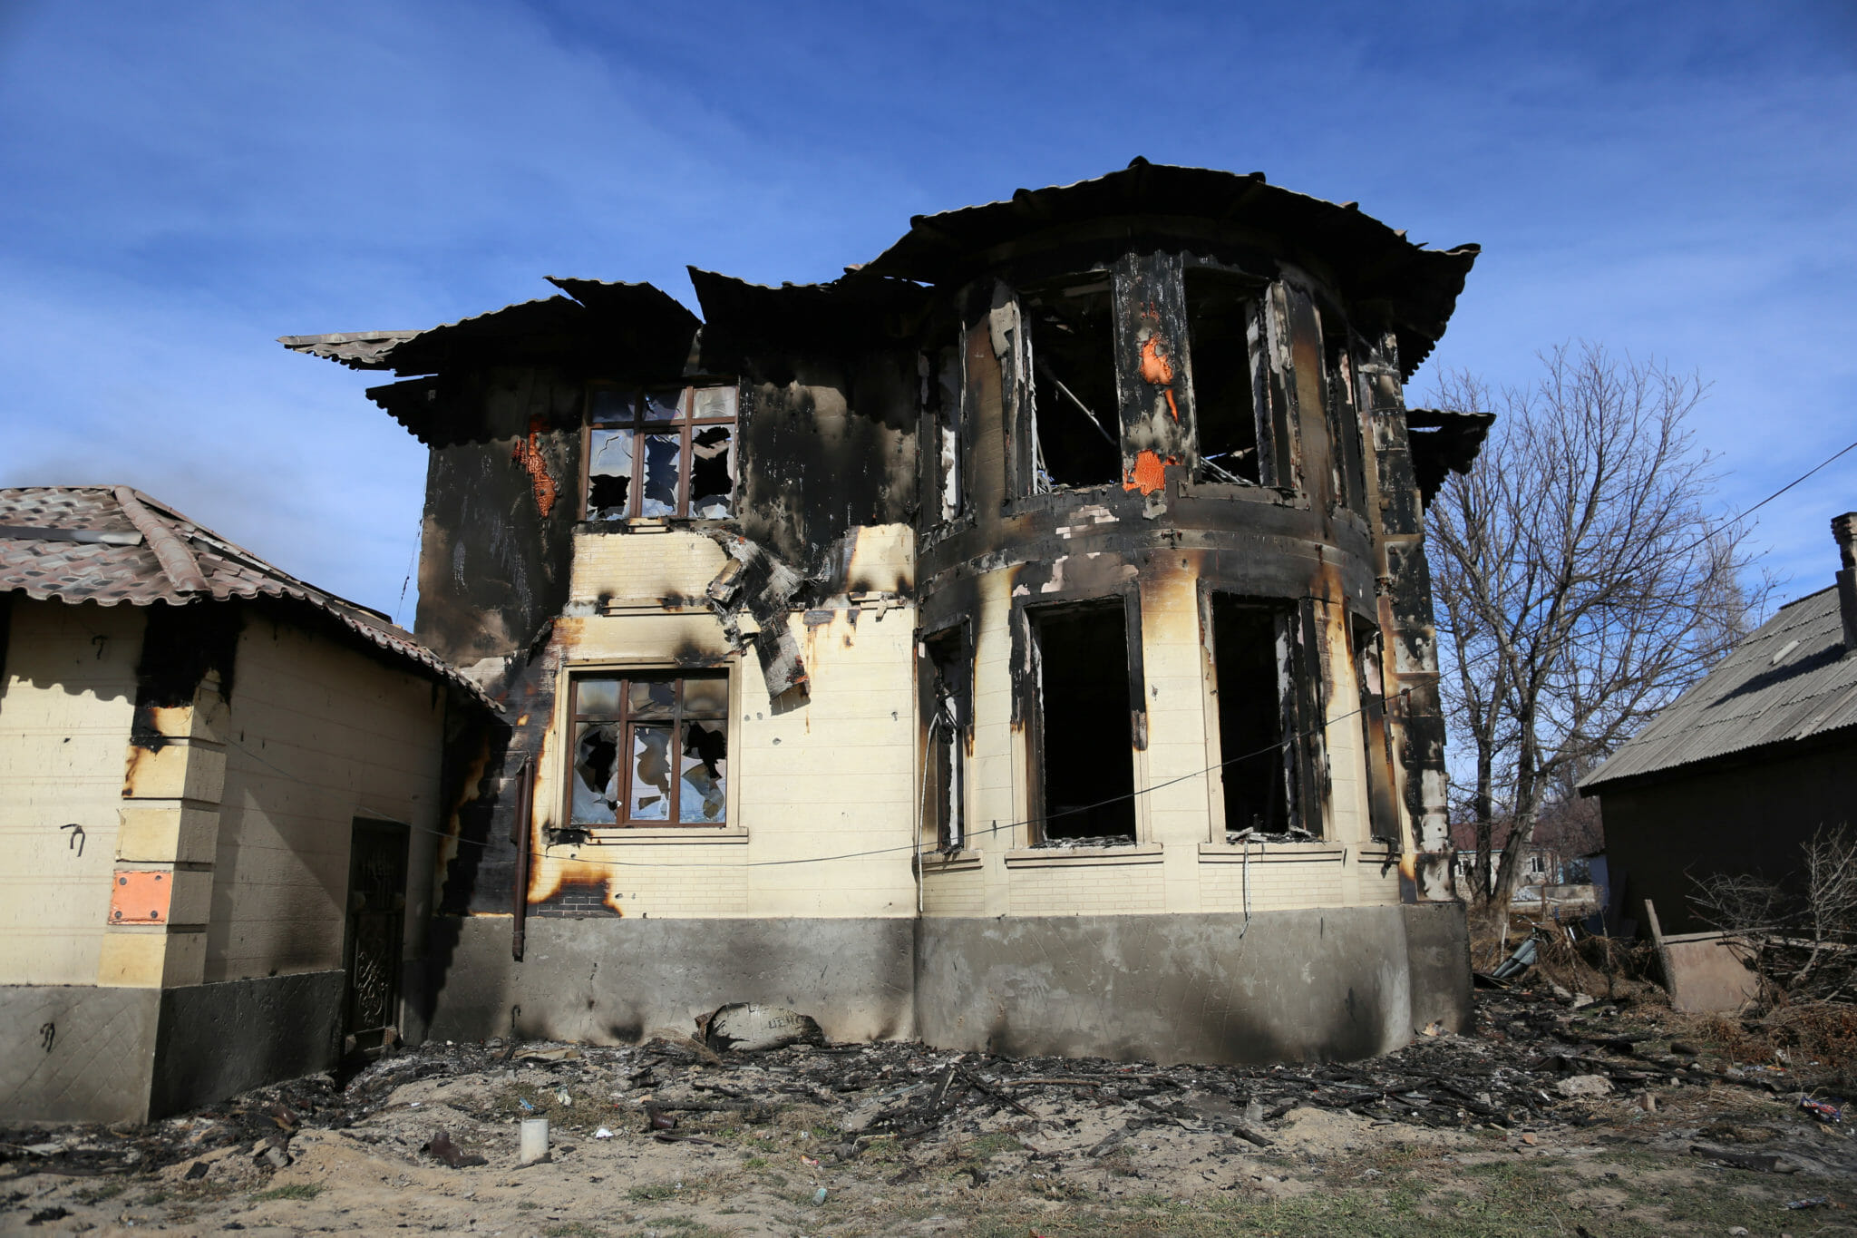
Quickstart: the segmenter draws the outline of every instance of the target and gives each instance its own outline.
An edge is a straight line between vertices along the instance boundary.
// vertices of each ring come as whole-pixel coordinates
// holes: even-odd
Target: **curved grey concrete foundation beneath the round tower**
[[[1441,1002],[1404,908],[925,921],[917,1034],[1005,1054],[1365,1058]],[[1458,917],[1461,926],[1463,919]],[[1469,969],[1465,967],[1465,980]]]

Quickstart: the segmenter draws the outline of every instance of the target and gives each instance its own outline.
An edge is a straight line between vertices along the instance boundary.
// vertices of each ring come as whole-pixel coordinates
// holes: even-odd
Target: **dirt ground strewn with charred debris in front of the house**
[[[1811,1062],[1733,1062],[1668,1008],[1478,997],[1473,1036],[1287,1067],[433,1043],[147,1127],[0,1132],[0,1231],[1857,1232]],[[537,1115],[552,1156],[520,1166]]]

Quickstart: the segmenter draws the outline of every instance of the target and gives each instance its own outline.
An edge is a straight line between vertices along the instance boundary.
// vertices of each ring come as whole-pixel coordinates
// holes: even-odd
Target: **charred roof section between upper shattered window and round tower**
[[[730,373],[765,355],[830,356],[908,338],[930,290],[849,271],[830,284],[750,284],[689,267],[702,306],[702,368]]]

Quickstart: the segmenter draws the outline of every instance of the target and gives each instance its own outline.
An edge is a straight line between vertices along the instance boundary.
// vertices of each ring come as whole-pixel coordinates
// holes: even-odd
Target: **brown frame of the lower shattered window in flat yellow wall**
[[[717,679],[722,683],[722,705],[715,711],[687,713],[683,703],[683,683],[689,679]],[[581,709],[581,685],[589,681],[611,681],[618,685],[618,709],[613,713],[583,711]],[[669,718],[633,718],[630,703],[630,685],[639,681],[672,681],[676,683],[676,696]],[[589,830],[589,832],[615,832],[631,833],[639,830],[732,830],[734,824],[734,781],[728,772],[728,761],[732,759],[726,744],[732,728],[732,715],[735,709],[735,677],[728,666],[713,668],[689,668],[689,666],[665,666],[665,664],[637,664],[637,666],[578,666],[568,674],[566,687],[566,752],[563,757],[563,787],[561,787],[561,820],[570,830]],[[579,772],[576,768],[579,757],[579,731],[585,722],[611,722],[618,728],[618,752],[615,754],[617,772],[622,783],[617,787],[618,798],[613,813],[613,820],[574,820],[574,793],[578,787]],[[635,761],[631,757],[631,728],[637,724],[646,726],[669,726],[672,728],[672,754],[678,761],[683,755],[683,724],[685,722],[721,722],[724,737],[724,770],[722,770],[722,817],[717,820],[682,820],[682,800],[683,800],[683,770],[680,765],[672,767],[670,778],[670,804],[667,806],[665,817],[650,819],[631,819],[631,789]]]

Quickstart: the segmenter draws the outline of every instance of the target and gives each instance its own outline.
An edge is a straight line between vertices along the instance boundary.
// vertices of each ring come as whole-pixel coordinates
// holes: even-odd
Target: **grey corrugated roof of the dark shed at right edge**
[[[1673,700],[1597,770],[1586,794],[1755,748],[1857,726],[1857,655],[1844,655],[1838,590],[1781,607],[1701,683]]]

